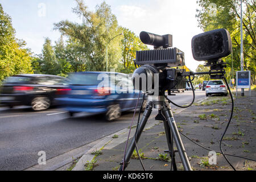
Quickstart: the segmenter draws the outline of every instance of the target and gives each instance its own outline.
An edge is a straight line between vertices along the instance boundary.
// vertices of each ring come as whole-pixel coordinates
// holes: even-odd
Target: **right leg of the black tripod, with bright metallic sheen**
[[[179,152],[184,170],[192,171],[192,168],[188,160],[188,156],[185,152],[185,148],[180,138],[179,130],[177,129],[177,126],[174,120],[174,115],[172,114],[172,111],[171,111],[171,106],[169,104],[164,104],[164,107],[162,110],[163,110],[164,117],[167,119],[168,125],[170,126],[172,137],[174,137],[174,141],[176,143],[176,147]]]

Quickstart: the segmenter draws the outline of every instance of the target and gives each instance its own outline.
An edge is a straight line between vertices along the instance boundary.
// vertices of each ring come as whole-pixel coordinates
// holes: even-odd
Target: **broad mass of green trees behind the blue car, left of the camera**
[[[148,49],[147,46],[134,32],[118,26],[117,18],[105,2],[96,6],[95,11],[89,11],[82,0],[76,2],[73,13],[82,23],[61,20],[54,24],[61,37],[55,46],[46,39],[42,54],[32,60],[35,73],[67,76],[69,72],[105,71],[107,47],[108,71],[115,68],[117,72],[132,73],[136,51]]]

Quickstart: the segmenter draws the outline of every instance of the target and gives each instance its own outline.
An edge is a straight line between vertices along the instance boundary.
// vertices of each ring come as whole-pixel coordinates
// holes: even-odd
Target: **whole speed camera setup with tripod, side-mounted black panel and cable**
[[[171,95],[171,89],[185,88],[185,83],[189,82],[192,85],[191,76],[195,78],[195,75],[210,75],[213,79],[224,78],[226,85],[228,83],[225,78],[225,63],[220,60],[222,57],[228,56],[232,51],[232,42],[230,39],[229,32],[225,29],[218,29],[203,34],[199,34],[192,39],[192,54],[197,61],[207,61],[205,66],[210,67],[209,72],[186,72],[185,69],[177,69],[172,67],[183,66],[184,64],[184,53],[177,48],[172,47],[172,36],[171,35],[155,35],[148,32],[141,32],[140,38],[143,43],[154,46],[154,50],[149,51],[137,51],[135,66],[141,65],[141,67],[135,69],[132,77],[132,81],[135,89],[142,90],[144,94],[148,96],[148,104],[146,110],[143,113],[141,120],[138,118],[137,131],[134,134],[134,138],[131,140],[130,146],[120,163],[119,170],[124,170],[134,152],[134,148],[137,146],[139,137],[142,134],[146,122],[150,118],[152,109],[158,109],[158,115],[155,119],[163,121],[164,130],[167,137],[168,152],[171,157],[172,166],[174,170],[177,170],[175,162],[175,152],[179,152],[181,163],[183,164],[184,170],[191,171],[192,167],[189,163],[189,159],[183,142],[177,129],[174,115],[171,111],[171,104],[181,108],[187,108],[195,101],[195,90],[192,86],[193,101],[187,106],[180,106],[172,102],[170,98],[166,96],[166,90]],[[144,76],[144,80],[142,79]],[[187,78],[189,81],[187,81]],[[146,79],[146,80],[145,80]],[[143,86],[146,85],[146,88]],[[158,88],[158,89],[155,89]],[[228,86],[229,89],[229,86]],[[141,92],[140,92],[141,93]],[[230,97],[232,98],[231,91],[229,89]],[[158,94],[155,97],[155,94]],[[172,94],[173,95],[173,94]],[[232,98],[233,104],[233,98]],[[229,118],[229,123],[232,119],[232,112]],[[228,129],[229,124],[226,129]],[[226,132],[226,131],[225,131]],[[225,134],[225,133],[224,133]],[[222,138],[224,137],[222,135]],[[129,138],[129,137],[128,137]],[[221,141],[222,141],[221,138]],[[177,150],[174,150],[174,142]],[[128,140],[127,140],[128,143]],[[126,148],[126,147],[125,147]],[[138,147],[137,152],[139,156]],[[221,142],[220,142],[221,148]],[[225,154],[222,151],[222,155]],[[226,159],[226,158],[225,158]],[[228,160],[227,160],[228,161]],[[142,162],[141,162],[142,163]],[[143,167],[144,168],[144,167]]]

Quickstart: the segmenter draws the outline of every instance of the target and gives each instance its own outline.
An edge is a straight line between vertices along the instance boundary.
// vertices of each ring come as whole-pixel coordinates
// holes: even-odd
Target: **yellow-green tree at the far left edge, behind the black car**
[[[11,17],[0,4],[0,81],[20,73],[32,73],[31,52],[24,48],[26,43],[15,38]]]

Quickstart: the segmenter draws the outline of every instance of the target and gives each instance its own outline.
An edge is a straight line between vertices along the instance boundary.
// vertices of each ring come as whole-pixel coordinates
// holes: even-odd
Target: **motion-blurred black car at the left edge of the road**
[[[35,111],[55,105],[55,98],[68,91],[67,78],[53,75],[15,75],[0,88],[0,104],[31,106]]]

